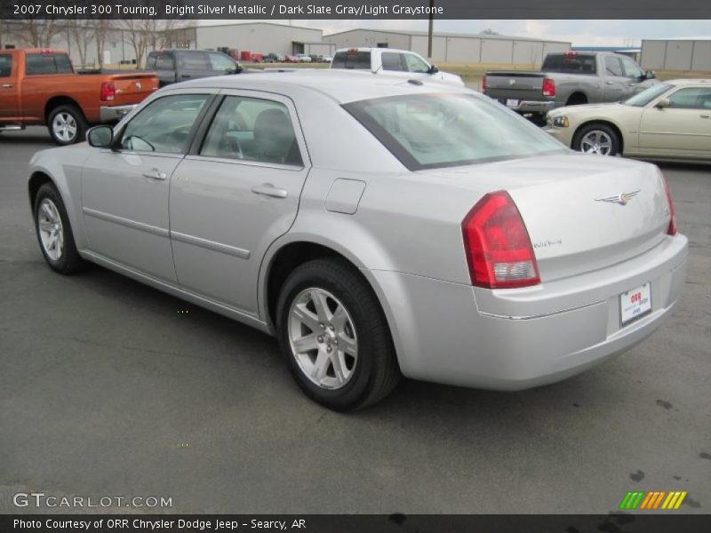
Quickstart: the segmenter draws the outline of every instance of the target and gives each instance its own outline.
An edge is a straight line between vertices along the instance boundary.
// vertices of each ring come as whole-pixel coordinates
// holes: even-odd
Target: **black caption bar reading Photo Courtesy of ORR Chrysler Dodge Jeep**
[[[663,513],[663,512],[662,512]],[[711,516],[677,513],[609,515],[140,515],[18,514],[0,516],[3,533],[701,533],[711,530]]]

